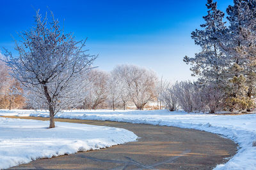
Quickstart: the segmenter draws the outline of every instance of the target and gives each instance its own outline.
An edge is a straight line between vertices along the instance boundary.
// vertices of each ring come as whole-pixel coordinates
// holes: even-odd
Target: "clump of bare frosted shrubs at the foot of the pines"
[[[164,90],[162,101],[170,111],[181,108],[187,112],[215,113],[223,110],[225,92],[214,84],[200,85],[198,81],[180,81]]]

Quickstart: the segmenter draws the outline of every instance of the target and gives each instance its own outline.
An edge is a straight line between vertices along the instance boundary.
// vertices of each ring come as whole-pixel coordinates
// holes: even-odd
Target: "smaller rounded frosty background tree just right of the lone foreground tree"
[[[85,106],[96,110],[108,98],[108,73],[92,69],[87,76]]]

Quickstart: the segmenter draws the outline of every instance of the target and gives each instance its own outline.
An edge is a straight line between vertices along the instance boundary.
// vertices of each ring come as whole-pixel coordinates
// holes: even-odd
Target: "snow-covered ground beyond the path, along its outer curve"
[[[47,111],[0,110],[0,115],[49,117]],[[252,115],[209,115],[203,113],[155,111],[63,111],[57,118],[84,120],[112,120],[134,124],[168,125],[221,134],[239,144],[237,154],[226,164],[216,169],[256,169],[256,114]]]

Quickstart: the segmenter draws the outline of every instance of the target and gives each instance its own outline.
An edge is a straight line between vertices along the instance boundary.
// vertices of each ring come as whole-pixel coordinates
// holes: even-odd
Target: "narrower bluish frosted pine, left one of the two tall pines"
[[[208,15],[204,18],[205,24],[200,25],[203,30],[193,31],[191,38],[202,50],[195,54],[195,57],[184,57],[184,62],[191,64],[193,76],[198,76],[202,84],[214,83],[217,86],[221,83],[221,70],[225,67],[225,55],[220,51],[219,39],[221,32],[225,31],[223,22],[224,13],[217,9],[217,3],[207,1]]]

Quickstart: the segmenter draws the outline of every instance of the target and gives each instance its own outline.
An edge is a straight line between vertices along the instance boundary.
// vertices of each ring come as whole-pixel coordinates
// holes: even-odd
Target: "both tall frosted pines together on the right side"
[[[212,99],[204,100],[209,101],[208,106],[252,111],[256,92],[256,1],[234,0],[227,8],[228,26],[223,22],[225,14],[218,10],[217,2],[208,0],[206,6],[205,24],[200,25],[201,30],[191,33],[201,51],[195,57],[184,57],[184,62],[191,64],[192,75],[198,77],[203,94],[218,92],[213,100],[215,104]],[[215,90],[204,92],[205,87]]]

